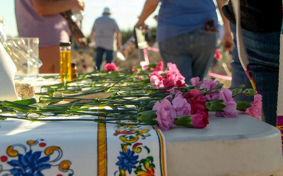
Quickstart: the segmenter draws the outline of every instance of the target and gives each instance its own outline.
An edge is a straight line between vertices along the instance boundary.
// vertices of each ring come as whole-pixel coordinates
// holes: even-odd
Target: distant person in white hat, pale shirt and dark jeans
[[[111,63],[113,52],[122,47],[122,35],[116,21],[110,18],[110,9],[104,8],[102,15],[95,20],[90,36],[90,42],[96,47],[98,70],[100,70],[104,53],[106,53],[106,62]]]

